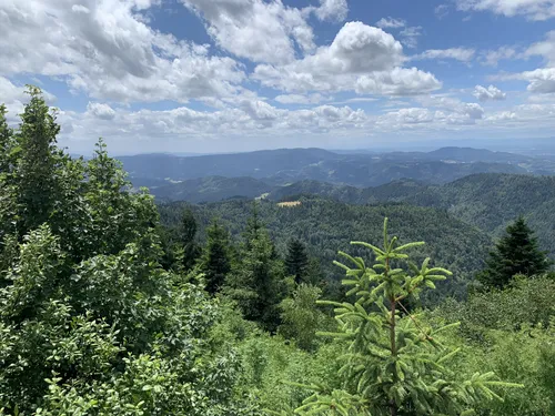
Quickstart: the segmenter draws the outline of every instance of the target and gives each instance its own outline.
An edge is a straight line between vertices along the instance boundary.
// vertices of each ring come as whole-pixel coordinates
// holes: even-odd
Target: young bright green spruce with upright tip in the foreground
[[[434,288],[434,282],[445,280],[451,272],[428,267],[430,258],[420,268],[410,263],[404,252],[424,243],[397,245],[397,239],[387,235],[387,219],[383,234],[383,247],[351,243],[373,252],[372,266],[361,257],[340,252],[354,264],[349,267],[335,262],[345,271],[343,284],[352,287],[347,295],[354,295],[356,302],[319,304],[334,306],[339,323],[337,333],[320,335],[346,343],[346,353],[340,357],[343,386],[310,386],[314,395],[295,414],[458,416],[470,415],[484,400],[501,399],[494,389],[516,385],[497,382],[493,373],[460,381],[456,372],[450,369],[448,362],[458,349],[444,347],[441,333],[457,324],[432,329],[405,311],[410,296],[418,296],[425,287]]]

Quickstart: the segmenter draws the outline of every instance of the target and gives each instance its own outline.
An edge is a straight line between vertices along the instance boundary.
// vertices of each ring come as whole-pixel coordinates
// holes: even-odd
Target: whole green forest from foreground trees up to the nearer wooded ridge
[[[157,204],[28,93],[0,106],[0,415],[555,415],[542,196]]]

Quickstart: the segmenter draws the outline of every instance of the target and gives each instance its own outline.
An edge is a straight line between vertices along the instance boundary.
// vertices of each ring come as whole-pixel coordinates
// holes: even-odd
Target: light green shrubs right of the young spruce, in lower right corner
[[[480,414],[553,414],[554,291],[553,276],[522,276],[503,291],[473,293],[464,303],[450,300],[431,314],[440,322],[461,319],[458,333],[450,334],[448,339],[465,347],[464,356],[458,357],[460,372],[493,371],[504,381],[524,384]]]

